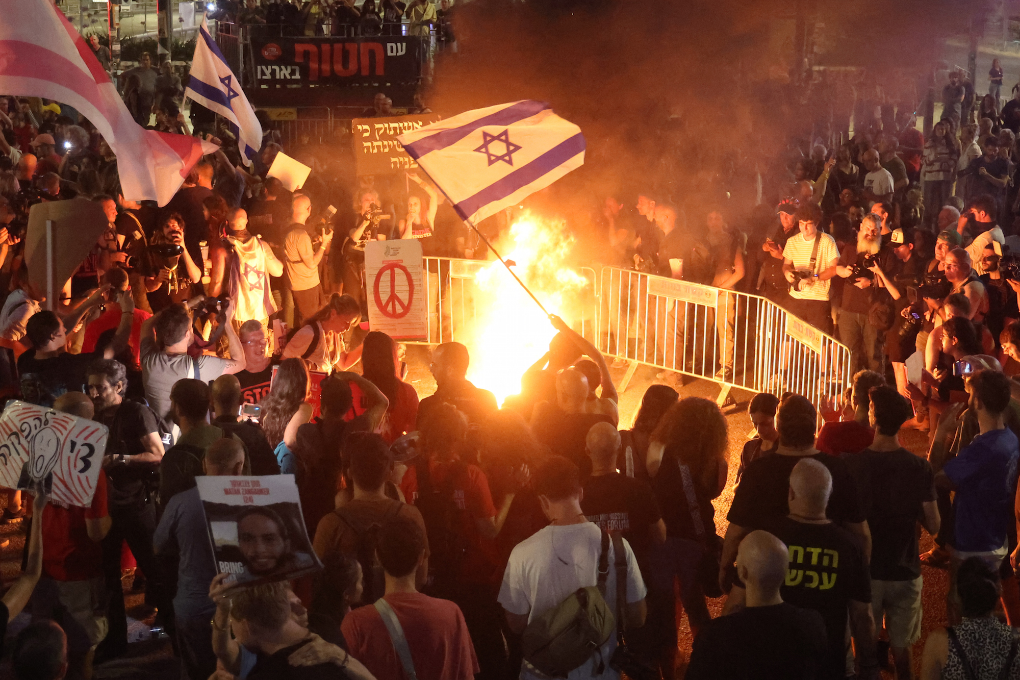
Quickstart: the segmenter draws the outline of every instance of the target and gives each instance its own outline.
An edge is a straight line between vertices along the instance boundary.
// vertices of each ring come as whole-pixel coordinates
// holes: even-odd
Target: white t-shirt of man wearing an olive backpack
[[[645,598],[648,589],[642,580],[641,570],[630,545],[623,541],[627,551],[627,603]],[[578,588],[598,583],[599,553],[602,551],[602,531],[591,522],[565,527],[548,526],[530,538],[521,541],[510,553],[507,571],[500,587],[500,604],[512,614],[527,614],[530,623],[556,606]],[[616,612],[616,568],[613,544],[609,544],[609,575],[606,578],[606,602]],[[565,563],[565,564],[564,564]],[[567,680],[617,680],[620,675],[609,668],[608,661],[616,648],[616,635],[602,645],[602,659],[607,662],[602,675],[596,675],[597,655],[574,669]],[[523,680],[538,680],[522,666]]]

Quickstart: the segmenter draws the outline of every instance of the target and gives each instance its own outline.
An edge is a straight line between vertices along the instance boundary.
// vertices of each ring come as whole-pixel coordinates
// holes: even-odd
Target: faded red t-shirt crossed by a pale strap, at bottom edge
[[[474,645],[460,608],[420,592],[393,592],[384,597],[404,629],[419,678],[473,680],[478,672]],[[360,606],[340,626],[347,650],[376,678],[406,678],[382,617],[374,606]]]

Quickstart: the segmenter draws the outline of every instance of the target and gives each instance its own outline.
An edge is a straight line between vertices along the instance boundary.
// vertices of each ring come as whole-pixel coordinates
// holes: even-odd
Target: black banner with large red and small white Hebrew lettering
[[[400,85],[421,78],[418,36],[252,38],[257,87]]]

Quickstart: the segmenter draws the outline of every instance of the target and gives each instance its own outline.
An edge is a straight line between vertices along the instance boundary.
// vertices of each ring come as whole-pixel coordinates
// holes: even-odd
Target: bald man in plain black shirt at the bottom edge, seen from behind
[[[824,624],[817,612],[783,601],[787,562],[786,546],[772,534],[753,531],[744,538],[736,569],[747,585],[747,604],[701,630],[687,680],[823,677]]]

